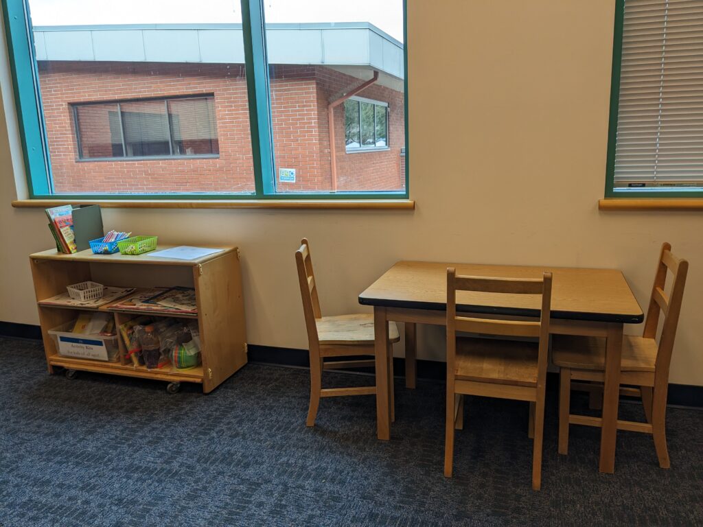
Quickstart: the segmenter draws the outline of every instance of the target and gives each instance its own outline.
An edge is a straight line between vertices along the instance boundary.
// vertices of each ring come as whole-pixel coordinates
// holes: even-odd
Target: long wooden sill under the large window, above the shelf
[[[413,210],[413,200],[15,200],[13,207],[47,209],[97,204],[114,209],[385,209]]]

